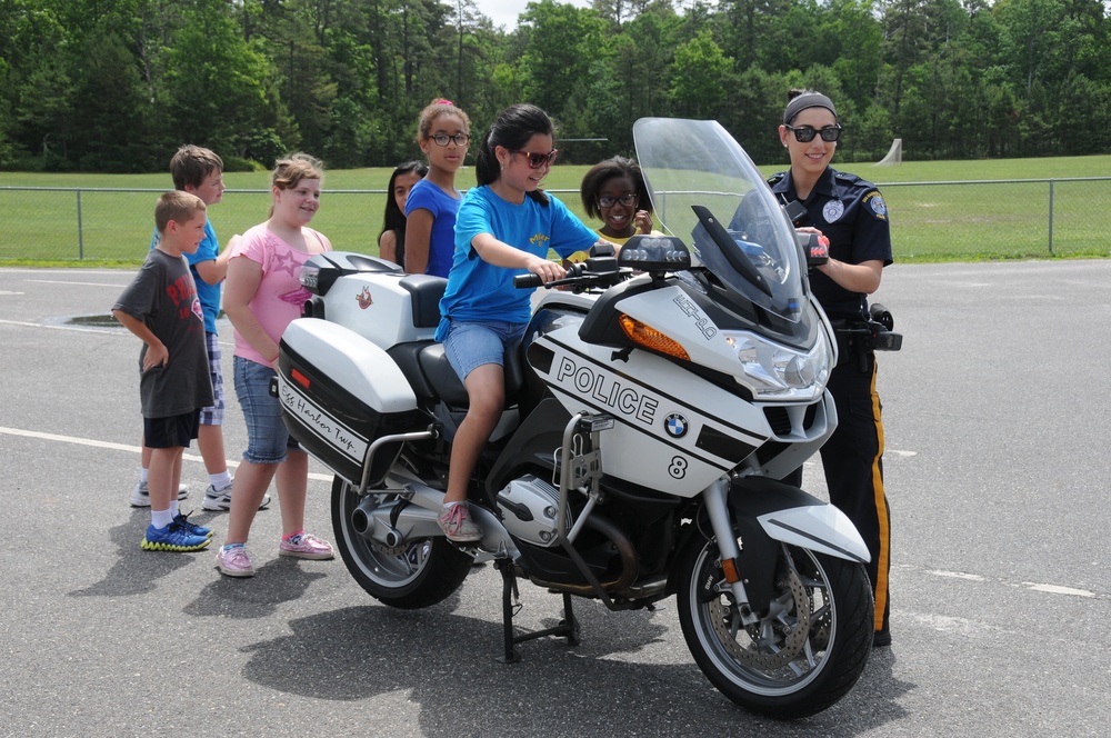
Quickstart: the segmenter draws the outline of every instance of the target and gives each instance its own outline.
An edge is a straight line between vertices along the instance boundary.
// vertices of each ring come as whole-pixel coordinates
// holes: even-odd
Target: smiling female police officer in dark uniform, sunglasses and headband
[[[883,489],[883,423],[875,392],[875,355],[850,332],[868,318],[868,296],[891,263],[888,209],[875,186],[830,167],[841,138],[833,101],[814,90],[791,90],[779,139],[791,168],[773,174],[772,191],[798,200],[805,217],[797,226],[829,239],[829,263],[810,273],[810,286],[838,332],[839,360],[828,385],[838,427],[822,447],[830,501],[849,516],[868,543],[868,575],[875,595],[875,646],[891,644],[888,624],[890,522]],[[849,329],[848,331],[845,329]],[[791,481],[801,485],[802,470]]]

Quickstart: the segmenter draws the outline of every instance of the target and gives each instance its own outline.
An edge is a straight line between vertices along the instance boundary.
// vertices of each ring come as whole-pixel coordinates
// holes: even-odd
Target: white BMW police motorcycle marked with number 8
[[[382,602],[433,605],[492,559],[509,661],[532,638],[578,642],[572,597],[620,610],[675,596],[719,690],[812,715],[852,688],[872,641],[861,537],[775,481],[837,423],[832,330],[805,247],[724,129],[643,119],[634,137],[668,235],[577,266],[507,352],[507,409],[469,490],[481,541],[454,545],[436,520],[467,408],[432,341],[444,280],[314,257],[274,391],[291,435],[334,470],[338,548]],[[518,632],[519,578],[562,594],[559,626]]]

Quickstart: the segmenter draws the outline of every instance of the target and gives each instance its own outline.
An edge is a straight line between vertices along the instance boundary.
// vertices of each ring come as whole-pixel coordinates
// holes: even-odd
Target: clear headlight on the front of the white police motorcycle
[[[757,397],[813,399],[829,381],[832,351],[825,336],[809,351],[774,343],[752,333],[725,333],[740,362],[738,381]]]

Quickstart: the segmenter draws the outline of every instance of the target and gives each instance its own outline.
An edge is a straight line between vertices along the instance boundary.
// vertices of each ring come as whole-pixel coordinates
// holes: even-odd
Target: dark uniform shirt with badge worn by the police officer
[[[788,202],[799,199],[790,171],[772,174],[768,183]],[[891,263],[888,209],[875,184],[827,167],[802,205],[808,217],[798,225],[813,226],[825,235],[831,259],[853,265],[872,260],[882,261],[884,267]],[[850,292],[818,269],[810,272],[810,286],[831,320],[868,315],[863,292]]]

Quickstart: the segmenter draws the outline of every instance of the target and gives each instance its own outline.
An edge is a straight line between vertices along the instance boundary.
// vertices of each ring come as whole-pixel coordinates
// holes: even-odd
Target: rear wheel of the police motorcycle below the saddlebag
[[[406,610],[436,605],[459,589],[471,568],[469,556],[440,537],[407,540],[394,548],[368,540],[351,521],[362,500],[354,487],[336,477],[332,529],[340,557],[360,587],[384,605]],[[381,496],[382,505],[391,501],[392,496]]]

